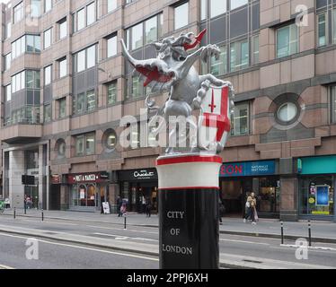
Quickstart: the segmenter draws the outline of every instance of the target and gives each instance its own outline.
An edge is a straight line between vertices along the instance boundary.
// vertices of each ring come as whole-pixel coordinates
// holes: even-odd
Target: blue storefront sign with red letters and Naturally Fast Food
[[[223,164],[220,177],[251,177],[275,174],[275,161],[252,161]]]

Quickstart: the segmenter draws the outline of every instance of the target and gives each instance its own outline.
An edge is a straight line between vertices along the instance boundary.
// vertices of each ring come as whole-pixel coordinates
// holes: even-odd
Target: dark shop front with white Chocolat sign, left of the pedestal
[[[158,177],[156,169],[120,170],[120,196],[128,204],[129,212],[145,213],[146,202],[158,211]]]

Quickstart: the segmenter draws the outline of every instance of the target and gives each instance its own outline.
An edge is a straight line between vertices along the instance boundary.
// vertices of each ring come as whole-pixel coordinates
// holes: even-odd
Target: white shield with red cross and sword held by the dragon
[[[220,143],[223,147],[231,131],[230,88],[210,87],[199,116],[199,146],[210,150]]]

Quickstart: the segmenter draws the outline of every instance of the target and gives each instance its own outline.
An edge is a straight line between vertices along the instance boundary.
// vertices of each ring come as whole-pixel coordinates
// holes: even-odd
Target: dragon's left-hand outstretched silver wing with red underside
[[[176,79],[174,70],[169,68],[163,60],[157,58],[137,60],[130,56],[123,39],[121,39],[121,46],[123,56],[135,68],[137,74],[140,74],[140,80],[144,81],[144,87],[151,88],[152,92],[170,91]]]

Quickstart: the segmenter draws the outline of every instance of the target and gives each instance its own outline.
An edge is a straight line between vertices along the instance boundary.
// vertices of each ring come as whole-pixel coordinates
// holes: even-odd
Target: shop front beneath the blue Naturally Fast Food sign
[[[280,213],[280,177],[277,161],[225,163],[220,169],[221,199],[226,215],[243,216],[247,196],[257,196],[261,217],[278,218]]]

